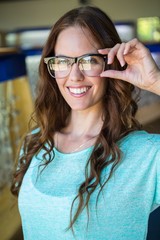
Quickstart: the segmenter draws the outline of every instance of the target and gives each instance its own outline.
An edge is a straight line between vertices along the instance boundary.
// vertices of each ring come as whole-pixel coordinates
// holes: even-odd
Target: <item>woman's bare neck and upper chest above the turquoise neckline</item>
[[[65,153],[93,146],[103,126],[102,108],[72,111],[68,125],[55,135],[56,147]]]

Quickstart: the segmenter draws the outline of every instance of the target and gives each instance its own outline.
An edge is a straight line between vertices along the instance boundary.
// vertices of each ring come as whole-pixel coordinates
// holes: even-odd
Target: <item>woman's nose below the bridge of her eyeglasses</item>
[[[84,79],[84,75],[83,73],[80,71],[79,66],[77,63],[74,63],[71,67],[71,71],[69,74],[69,79],[71,81],[77,82],[77,81],[83,81]]]

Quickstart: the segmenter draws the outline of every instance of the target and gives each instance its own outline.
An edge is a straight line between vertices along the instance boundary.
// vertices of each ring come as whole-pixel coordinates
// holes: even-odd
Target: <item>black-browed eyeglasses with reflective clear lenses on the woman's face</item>
[[[78,64],[80,71],[88,77],[97,77],[105,69],[107,55],[86,54],[81,57],[55,56],[44,58],[49,74],[53,78],[65,78],[74,63]]]

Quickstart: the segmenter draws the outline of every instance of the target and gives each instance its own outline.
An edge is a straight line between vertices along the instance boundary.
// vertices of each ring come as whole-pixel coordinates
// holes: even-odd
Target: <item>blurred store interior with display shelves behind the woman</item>
[[[0,0],[0,239],[22,240],[10,178],[22,135],[33,111],[38,64],[54,22],[82,5],[104,10],[123,41],[137,37],[160,67],[159,0]],[[141,91],[137,118],[149,132],[160,133],[160,97]],[[147,240],[160,239],[160,210],[150,216]]]

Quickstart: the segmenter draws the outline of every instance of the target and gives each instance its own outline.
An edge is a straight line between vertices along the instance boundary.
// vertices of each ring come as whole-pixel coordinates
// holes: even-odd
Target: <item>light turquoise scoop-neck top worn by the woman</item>
[[[92,147],[64,154],[38,174],[44,151],[32,159],[19,193],[19,211],[25,240],[144,240],[148,217],[160,205],[160,135],[130,133],[118,142],[121,163],[100,194],[91,195],[87,227],[86,209],[74,225],[75,237],[66,231],[70,208]],[[110,167],[102,172],[104,180]]]

